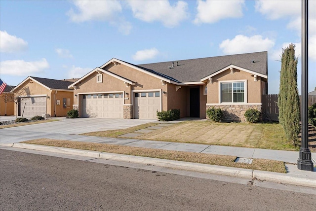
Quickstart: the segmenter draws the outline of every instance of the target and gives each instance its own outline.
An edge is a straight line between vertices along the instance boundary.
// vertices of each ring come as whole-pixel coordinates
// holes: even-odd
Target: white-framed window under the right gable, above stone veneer
[[[221,83],[221,103],[245,103],[245,82]]]

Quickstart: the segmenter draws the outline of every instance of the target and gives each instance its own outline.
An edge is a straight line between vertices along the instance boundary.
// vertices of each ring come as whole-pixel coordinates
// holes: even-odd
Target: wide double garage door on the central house
[[[82,96],[82,117],[123,118],[123,94],[94,94]]]

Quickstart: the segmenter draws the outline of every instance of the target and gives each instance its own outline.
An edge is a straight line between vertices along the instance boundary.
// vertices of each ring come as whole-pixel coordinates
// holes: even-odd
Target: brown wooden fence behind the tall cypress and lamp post
[[[300,97],[300,110],[302,107]],[[278,95],[262,95],[262,119],[264,121],[278,121],[278,106],[277,106]],[[312,106],[316,103],[316,95],[308,96],[308,106]]]

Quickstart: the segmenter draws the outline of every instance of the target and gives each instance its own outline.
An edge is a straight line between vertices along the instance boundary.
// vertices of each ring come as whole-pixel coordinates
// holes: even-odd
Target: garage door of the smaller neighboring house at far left
[[[46,97],[21,98],[19,111],[23,116],[42,116],[46,113]]]

